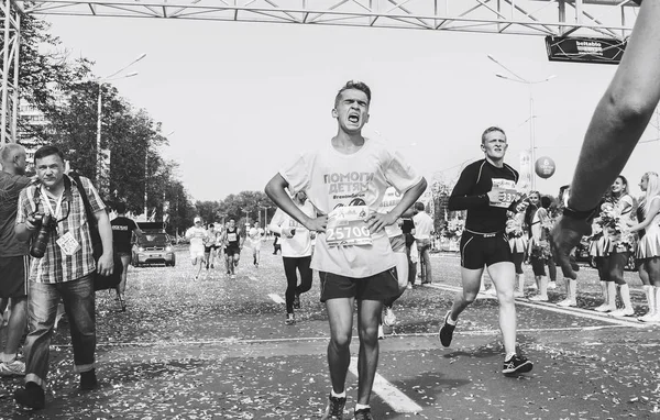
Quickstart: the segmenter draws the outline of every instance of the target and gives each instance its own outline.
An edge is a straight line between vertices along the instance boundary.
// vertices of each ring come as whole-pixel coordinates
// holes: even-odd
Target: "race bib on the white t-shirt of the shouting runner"
[[[340,207],[328,214],[326,243],[329,246],[371,245],[371,232],[364,221],[369,207]]]

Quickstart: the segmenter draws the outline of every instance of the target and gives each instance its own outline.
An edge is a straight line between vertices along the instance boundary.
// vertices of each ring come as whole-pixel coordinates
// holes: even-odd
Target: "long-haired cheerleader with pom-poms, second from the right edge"
[[[628,180],[623,175],[615,179],[610,191],[610,199],[601,206],[600,214],[608,240],[605,256],[607,302],[600,311],[609,312],[613,317],[631,317],[635,311],[630,301],[630,289],[624,279],[624,267],[628,263],[634,243],[630,235],[623,230],[627,230],[632,222],[635,200],[628,194]],[[617,286],[624,303],[622,309],[616,309]]]

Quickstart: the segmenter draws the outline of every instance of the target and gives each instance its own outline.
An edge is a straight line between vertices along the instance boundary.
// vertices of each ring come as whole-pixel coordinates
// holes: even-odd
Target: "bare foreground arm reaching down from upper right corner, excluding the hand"
[[[590,210],[620,174],[660,98],[660,2],[644,1],[630,41],[584,137],[570,207]]]

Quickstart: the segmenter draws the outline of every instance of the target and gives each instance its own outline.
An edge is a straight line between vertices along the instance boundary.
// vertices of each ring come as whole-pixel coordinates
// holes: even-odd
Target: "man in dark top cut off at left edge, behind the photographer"
[[[0,299],[7,300],[9,323],[7,341],[0,354],[0,376],[25,375],[25,364],[16,360],[19,344],[28,322],[28,244],[16,239],[14,224],[19,195],[32,179],[25,176],[25,150],[10,143],[0,151]],[[0,316],[1,316],[0,311]]]

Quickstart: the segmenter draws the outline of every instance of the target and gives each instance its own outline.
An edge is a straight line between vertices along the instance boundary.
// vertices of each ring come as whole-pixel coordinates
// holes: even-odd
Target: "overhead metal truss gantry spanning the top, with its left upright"
[[[186,19],[307,25],[361,26],[514,35],[592,36],[625,40],[637,16],[632,0],[4,0],[4,34],[11,13]],[[10,11],[11,9],[11,11]],[[11,13],[10,13],[11,12]],[[14,18],[18,22],[18,18]],[[12,26],[13,27],[13,26]],[[16,26],[15,33],[19,32]],[[7,40],[7,38],[6,38]],[[14,43],[18,57],[18,41]],[[12,48],[4,42],[4,49]],[[11,51],[11,49],[10,49]],[[11,54],[11,53],[10,53]],[[4,56],[3,56],[4,57]],[[3,62],[3,80],[8,71]],[[18,76],[16,76],[18,80]],[[2,114],[15,121],[6,101]],[[13,90],[15,91],[15,89]],[[13,92],[12,91],[12,92]],[[3,121],[6,121],[3,119]],[[15,124],[15,122],[14,122]],[[7,126],[3,124],[3,126]],[[7,131],[2,131],[2,144]],[[14,141],[12,135],[10,141]]]

